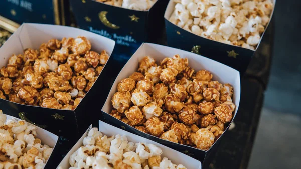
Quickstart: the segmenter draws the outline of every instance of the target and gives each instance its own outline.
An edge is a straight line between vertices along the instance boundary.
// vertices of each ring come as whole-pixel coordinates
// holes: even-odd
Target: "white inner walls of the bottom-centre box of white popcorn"
[[[92,129],[92,125],[88,128],[88,130],[83,134],[83,136],[78,140],[78,142],[73,146],[73,148],[68,152],[68,154],[65,156],[65,158],[62,160],[62,162],[58,165],[61,166],[63,169],[68,169],[70,167],[69,164],[69,158],[72,155],[73,152],[75,152],[78,148],[80,148],[83,145],[83,139],[88,135],[88,132]],[[105,122],[99,121],[99,131],[103,135],[106,136],[113,136],[113,135],[125,135],[128,139],[128,141],[131,141],[133,143],[149,143],[154,144],[157,147],[161,148],[163,150],[162,157],[167,157],[169,160],[171,160],[175,164],[182,164],[186,168],[195,168],[195,169],[201,169],[201,162],[198,160],[193,159],[192,157],[189,157],[181,152],[178,152],[172,148],[166,147],[164,145],[161,145],[155,141],[149,140],[144,137],[137,136],[135,134],[132,134],[130,132],[121,130],[119,128],[116,128],[114,126],[111,126]]]

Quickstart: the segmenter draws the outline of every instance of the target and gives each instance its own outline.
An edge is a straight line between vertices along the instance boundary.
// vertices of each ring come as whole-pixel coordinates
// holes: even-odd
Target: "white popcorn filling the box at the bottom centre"
[[[95,139],[94,145],[89,145],[93,141],[92,135],[99,135]],[[103,152],[97,145],[99,138],[109,140],[109,151]],[[113,139],[112,139],[113,138]],[[94,168],[94,169],[113,169],[113,168],[132,168],[132,169],[150,169],[146,161],[153,156],[161,156],[162,149],[150,143],[134,143],[127,140],[126,136],[119,134],[113,137],[107,137],[101,134],[97,128],[92,128],[86,137],[82,137],[83,146],[75,150],[69,157],[69,169]],[[86,144],[86,145],[84,145]],[[97,150],[96,150],[97,149]],[[94,151],[93,151],[94,150]],[[158,158],[156,158],[158,159]],[[162,158],[160,157],[160,160]],[[38,162],[38,159],[37,159]],[[173,164],[171,160],[164,157],[160,162],[158,169],[186,169],[182,164]],[[142,165],[143,163],[143,165]],[[62,163],[61,163],[62,164]],[[61,165],[60,164],[60,165]],[[145,165],[146,164],[146,165]],[[159,163],[158,163],[159,164]],[[143,167],[142,167],[143,166]],[[58,167],[61,169],[63,167]]]

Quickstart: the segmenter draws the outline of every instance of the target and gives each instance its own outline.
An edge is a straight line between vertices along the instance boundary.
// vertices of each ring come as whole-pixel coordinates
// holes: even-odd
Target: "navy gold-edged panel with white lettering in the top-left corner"
[[[15,21],[65,25],[64,3],[61,0],[3,0],[0,15]],[[62,15],[62,18],[61,16]]]

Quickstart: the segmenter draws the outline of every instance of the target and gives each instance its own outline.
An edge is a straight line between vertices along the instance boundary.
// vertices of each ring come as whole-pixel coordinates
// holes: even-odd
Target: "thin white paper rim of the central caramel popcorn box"
[[[104,105],[103,105],[103,107],[102,107],[102,109],[101,109],[102,112],[104,112],[104,113],[110,115],[110,112],[107,112],[107,111],[105,111],[104,109],[106,108],[106,106],[108,106],[108,105],[111,104],[111,98],[110,98],[110,95],[111,95],[112,91],[117,91],[117,89],[114,89],[114,88],[113,88],[113,86],[114,86],[116,83],[119,83],[119,82],[117,81],[117,78],[120,76],[121,72],[124,71],[125,66],[131,61],[131,59],[134,58],[133,56],[136,57],[136,58],[134,58],[134,59],[138,59],[138,56],[136,55],[136,53],[138,53],[138,51],[141,50],[141,48],[143,48],[144,45],[148,45],[148,44],[149,44],[149,45],[154,45],[154,46],[159,46],[159,47],[164,47],[164,48],[169,48],[169,49],[172,48],[172,47],[163,46],[163,45],[158,45],[158,44],[153,44],[153,43],[143,43],[143,44],[136,50],[136,52],[132,55],[132,57],[127,61],[127,63],[124,65],[124,67],[121,69],[121,71],[119,72],[118,76],[116,77],[116,79],[115,79],[115,81],[114,81],[114,83],[113,83],[113,85],[112,85],[112,88],[110,89],[110,92],[109,92],[109,94],[108,94],[108,96],[107,96],[107,99],[106,99],[106,101],[105,101],[105,103],[104,103]],[[175,48],[173,48],[173,49],[175,49]],[[233,122],[233,120],[234,120],[234,118],[235,118],[235,116],[237,115],[237,112],[238,112],[238,108],[239,108],[239,104],[240,104],[240,94],[241,94],[240,72],[237,71],[237,70],[234,69],[234,68],[231,68],[231,67],[229,67],[229,66],[227,66],[227,65],[224,65],[224,64],[222,64],[222,63],[220,63],[220,62],[217,62],[217,61],[215,61],[215,60],[206,58],[206,57],[204,57],[204,56],[201,56],[201,55],[198,55],[198,54],[194,54],[194,53],[191,53],[191,52],[188,52],[188,51],[184,51],[184,50],[181,50],[181,49],[177,49],[177,50],[182,51],[182,52],[184,52],[184,53],[189,53],[189,54],[191,54],[191,55],[196,55],[196,56],[198,56],[198,57],[202,57],[202,59],[204,59],[204,60],[208,60],[208,61],[211,61],[211,62],[216,62],[216,63],[218,63],[218,64],[220,64],[220,65],[223,65],[223,66],[227,67],[228,69],[232,69],[233,71],[235,71],[235,72],[237,73],[237,78],[238,78],[238,82],[239,82],[239,86],[236,87],[236,89],[237,89],[237,88],[238,88],[238,89],[237,89],[237,91],[235,91],[235,92],[239,92],[238,97],[235,98],[235,100],[237,100],[237,105],[235,105],[236,108],[235,108],[234,115],[233,115],[233,117],[232,117],[231,122],[229,122],[228,127],[225,128],[225,130],[224,130],[224,132],[223,132],[223,134],[222,134],[222,135],[224,135],[224,134],[225,134],[225,131],[230,127],[231,123]],[[133,72],[132,72],[132,73],[133,73]],[[124,78],[127,78],[127,77],[124,77]],[[233,84],[231,84],[231,85],[233,85]],[[114,117],[113,117],[113,118],[114,118]],[[118,120],[118,119],[117,119],[117,120]],[[147,134],[147,133],[141,132],[140,130],[137,130],[136,128],[134,128],[134,127],[132,127],[132,126],[130,126],[130,125],[128,125],[128,124],[122,122],[121,120],[119,120],[119,121],[120,121],[121,123],[123,123],[124,125],[127,125],[128,127],[131,127],[131,128],[133,128],[133,129],[135,129],[135,130],[136,130],[137,132],[139,132],[139,133]],[[150,134],[147,134],[147,135],[149,135],[150,137],[154,137],[154,138],[161,139],[161,138],[159,138],[159,137],[156,137],[156,136],[153,136],[153,135],[150,135]],[[222,136],[222,135],[221,135],[221,136]],[[220,137],[221,137],[221,136],[220,136]],[[208,150],[201,150],[201,149],[194,148],[194,147],[191,147],[191,146],[188,146],[188,145],[179,144],[179,143],[174,143],[174,142],[167,141],[167,140],[164,140],[164,139],[161,139],[161,140],[164,141],[164,142],[171,143],[171,144],[186,146],[186,147],[189,147],[189,148],[194,148],[194,149],[197,149],[197,150],[200,150],[200,151],[208,152],[208,151],[210,151],[210,149],[216,144],[216,142],[218,142],[219,139],[220,139],[220,138],[218,138],[218,139],[214,142],[214,144],[213,144]]]

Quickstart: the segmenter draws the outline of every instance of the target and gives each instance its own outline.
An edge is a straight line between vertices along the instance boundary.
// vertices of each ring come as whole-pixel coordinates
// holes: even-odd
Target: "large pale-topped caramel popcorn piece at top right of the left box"
[[[74,39],[72,52],[78,55],[84,55],[91,49],[91,42],[86,37],[78,36]]]

